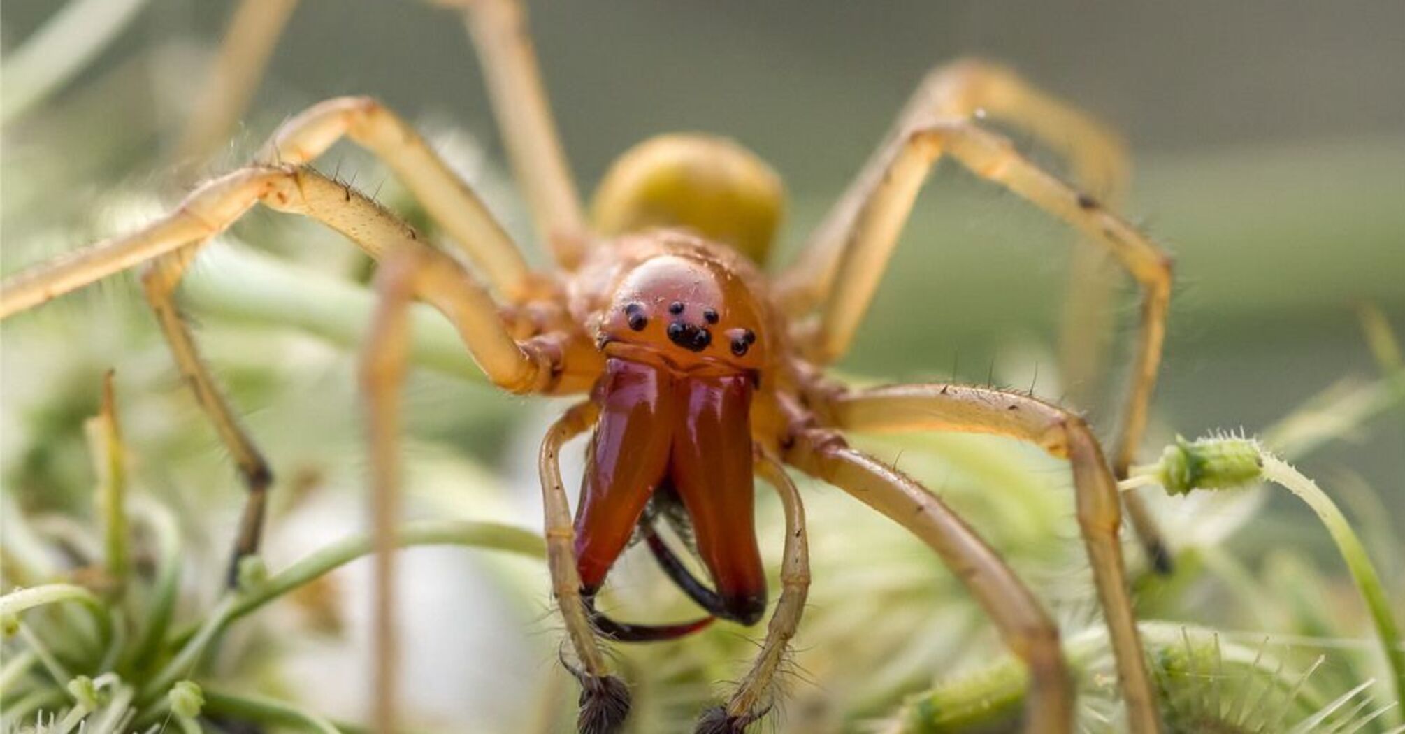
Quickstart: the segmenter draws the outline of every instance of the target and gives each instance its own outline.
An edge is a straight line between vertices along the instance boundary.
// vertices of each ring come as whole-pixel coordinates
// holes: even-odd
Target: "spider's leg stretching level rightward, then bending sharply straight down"
[[[1083,419],[1026,395],[943,384],[843,392],[830,398],[823,412],[825,419],[842,430],[995,433],[1068,458],[1073,470],[1079,527],[1113,641],[1128,724],[1137,733],[1159,730],[1117,537],[1117,484]]]

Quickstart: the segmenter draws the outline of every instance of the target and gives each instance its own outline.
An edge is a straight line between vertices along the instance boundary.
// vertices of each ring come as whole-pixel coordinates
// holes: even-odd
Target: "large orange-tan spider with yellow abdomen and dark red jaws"
[[[780,179],[740,145],[665,135],[627,152],[606,174],[590,217],[580,202],[538,77],[517,0],[464,6],[509,157],[554,257],[531,270],[478,195],[392,110],[364,97],[311,107],[278,128],[256,160],[197,187],[143,229],[24,271],[0,287],[0,318],[140,264],[145,297],[176,363],[247,485],[235,561],[259,550],[273,474],[216,388],[174,301],[201,246],[254,204],[343,233],[379,262],[379,301],[361,356],[378,554],[377,726],[393,724],[392,519],[396,513],[398,395],[406,371],[407,308],[426,301],[458,329],[504,391],[580,395],[548,429],[540,471],[552,593],[569,641],[565,665],[582,686],[579,730],[618,731],[628,689],[601,638],[672,640],[714,619],[756,624],[767,609],[753,527],[753,478],[781,495],[785,547],[780,600],[750,672],[700,733],[739,733],[773,703],[770,682],[801,622],[809,584],[805,516],[787,467],[826,481],[929,544],[991,616],[1027,667],[1026,730],[1066,733],[1073,683],[1048,613],[979,534],[894,467],[849,446],[847,432],[995,433],[1065,457],[1078,520],[1117,659],[1128,727],[1159,730],[1134,626],[1116,479],[1146,423],[1170,297],[1170,260],[1089,190],[1117,177],[1114,136],[1083,112],[979,60],[940,66],[917,86],[891,132],[809,236],[797,262],[763,270],[783,208]],[[1062,183],[979,124],[991,117],[1059,149],[1086,188]],[[348,138],[370,149],[423,202],[462,259],[431,246],[371,198],[311,163]],[[1078,415],[989,387],[908,384],[854,389],[825,366],[849,349],[929,172],[951,157],[1080,229],[1141,285],[1138,356],[1113,461]],[[461,260],[465,260],[466,264]],[[558,468],[562,446],[590,433],[572,515]],[[1130,505],[1152,560],[1155,529]],[[656,533],[673,523],[710,577],[695,578]],[[631,539],[643,539],[705,612],[649,626],[600,613],[594,596]],[[565,652],[565,648],[563,648]]]

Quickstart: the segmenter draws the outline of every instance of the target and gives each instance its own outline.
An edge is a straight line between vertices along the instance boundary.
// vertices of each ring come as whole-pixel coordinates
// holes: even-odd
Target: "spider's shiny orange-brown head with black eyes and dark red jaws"
[[[752,399],[769,370],[767,311],[719,245],[652,231],[624,257],[600,315],[606,373],[590,440],[576,557],[589,593],[656,491],[676,495],[717,592],[708,613],[752,624],[766,579],[752,522]]]

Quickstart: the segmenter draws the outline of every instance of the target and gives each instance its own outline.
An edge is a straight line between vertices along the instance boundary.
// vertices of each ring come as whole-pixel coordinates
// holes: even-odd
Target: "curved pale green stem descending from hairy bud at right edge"
[[[1375,634],[1380,637],[1385,659],[1395,678],[1397,706],[1405,706],[1405,647],[1401,644],[1399,629],[1391,613],[1391,603],[1385,596],[1385,589],[1381,586],[1381,579],[1375,574],[1375,567],[1371,564],[1366,547],[1361,546],[1360,539],[1356,537],[1356,532],[1352,530],[1352,523],[1347,522],[1342,510],[1332,502],[1332,498],[1316,482],[1267,451],[1263,451],[1263,477],[1284,487],[1307,502],[1312,508],[1312,512],[1322,520],[1322,524],[1326,526],[1326,532],[1332,536],[1332,541],[1336,543],[1342,560],[1346,561],[1346,568],[1350,571],[1352,579],[1356,581],[1356,588],[1360,591],[1367,612],[1371,614],[1371,622],[1375,624]]]

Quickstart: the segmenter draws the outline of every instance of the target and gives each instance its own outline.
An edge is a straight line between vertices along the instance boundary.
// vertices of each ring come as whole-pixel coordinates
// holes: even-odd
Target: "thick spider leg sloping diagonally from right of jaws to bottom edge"
[[[828,429],[799,430],[784,460],[851,494],[917,536],[941,557],[985,609],[1010,651],[1030,671],[1026,731],[1066,734],[1073,723],[1073,679],[1058,627],[1034,593],[965,522],[932,492],[884,463],[850,449]]]

